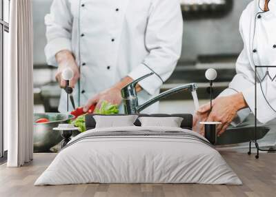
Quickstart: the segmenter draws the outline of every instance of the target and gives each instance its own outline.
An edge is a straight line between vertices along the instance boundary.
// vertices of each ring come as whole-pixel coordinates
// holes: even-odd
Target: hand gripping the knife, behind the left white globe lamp
[[[55,74],[55,78],[59,83],[61,88],[66,87],[66,81],[62,78],[62,72],[66,68],[70,68],[74,73],[72,80],[70,80],[70,87],[74,88],[75,84],[79,80],[79,67],[75,61],[72,52],[68,50],[62,50],[56,54],[57,63],[59,64],[59,68]]]

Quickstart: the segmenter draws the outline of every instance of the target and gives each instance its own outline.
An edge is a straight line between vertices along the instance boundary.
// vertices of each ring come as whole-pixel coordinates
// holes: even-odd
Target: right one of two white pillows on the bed
[[[180,117],[139,117],[142,127],[180,127],[184,118]]]

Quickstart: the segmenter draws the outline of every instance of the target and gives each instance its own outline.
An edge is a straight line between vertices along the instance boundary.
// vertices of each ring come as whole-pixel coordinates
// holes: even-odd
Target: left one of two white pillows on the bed
[[[106,127],[130,127],[135,126],[134,123],[137,115],[130,116],[93,116],[96,121],[96,128]]]

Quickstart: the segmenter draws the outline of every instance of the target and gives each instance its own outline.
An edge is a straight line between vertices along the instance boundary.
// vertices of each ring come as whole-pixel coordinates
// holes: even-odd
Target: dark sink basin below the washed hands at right
[[[262,139],[268,132],[270,127],[257,127],[257,140]],[[224,134],[217,138],[216,145],[231,145],[238,143],[246,143],[254,139],[254,127],[238,127],[227,129]]]

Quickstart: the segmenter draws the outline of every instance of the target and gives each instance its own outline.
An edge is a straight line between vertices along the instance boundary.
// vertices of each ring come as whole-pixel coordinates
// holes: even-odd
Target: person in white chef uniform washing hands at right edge
[[[210,104],[201,106],[197,121],[219,121],[223,133],[232,123],[244,121],[255,113],[255,65],[276,66],[276,1],[254,0],[242,13],[239,30],[244,41],[237,59],[233,81],[228,89]],[[269,75],[268,75],[269,74]],[[276,68],[257,68],[257,119],[261,123],[276,118]]]

